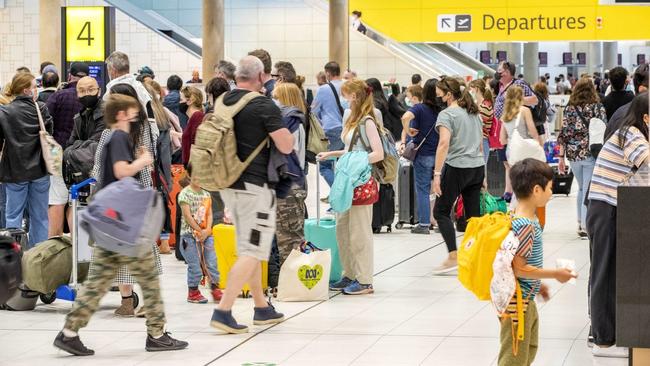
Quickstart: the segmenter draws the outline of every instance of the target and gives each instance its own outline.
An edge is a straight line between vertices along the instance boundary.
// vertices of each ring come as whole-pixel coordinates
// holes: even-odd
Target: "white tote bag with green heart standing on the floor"
[[[322,301],[329,298],[332,254],[306,242],[282,264],[278,301]]]

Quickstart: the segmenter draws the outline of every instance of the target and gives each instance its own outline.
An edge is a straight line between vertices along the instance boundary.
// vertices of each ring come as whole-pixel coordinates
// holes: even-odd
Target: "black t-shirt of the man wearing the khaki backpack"
[[[249,93],[248,90],[242,89],[235,89],[228,92],[224,97],[224,104],[227,106],[233,105],[247,93]],[[237,156],[241,161],[246,160],[253,150],[265,138],[269,137],[270,133],[281,128],[286,128],[284,122],[282,122],[280,109],[267,97],[253,99],[235,116],[234,121],[235,136],[237,138]],[[263,148],[231,188],[244,189],[244,182],[258,186],[268,184],[267,169],[269,157],[270,149],[267,147]]]

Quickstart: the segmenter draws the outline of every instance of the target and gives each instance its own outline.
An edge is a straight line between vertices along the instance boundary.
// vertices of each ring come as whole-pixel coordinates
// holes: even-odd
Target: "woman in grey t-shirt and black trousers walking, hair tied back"
[[[433,216],[445,239],[448,258],[435,269],[443,274],[458,268],[456,230],[451,221],[451,210],[458,197],[463,198],[465,216],[480,216],[480,195],[485,179],[483,161],[483,125],[469,88],[461,91],[461,84],[453,78],[444,78],[436,84],[436,93],[447,104],[440,112],[436,130],[440,135],[436,150],[433,193],[438,196]]]

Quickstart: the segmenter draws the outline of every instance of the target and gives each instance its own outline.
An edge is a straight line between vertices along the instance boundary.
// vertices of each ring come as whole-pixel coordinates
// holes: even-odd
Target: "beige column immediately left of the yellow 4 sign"
[[[65,65],[61,65],[61,1],[40,0],[38,16],[40,60],[54,63],[63,75],[62,67]]]

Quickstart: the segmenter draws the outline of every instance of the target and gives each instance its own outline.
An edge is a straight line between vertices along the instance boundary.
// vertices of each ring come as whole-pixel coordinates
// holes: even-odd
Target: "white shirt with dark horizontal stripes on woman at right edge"
[[[648,140],[636,127],[625,134],[621,148],[619,131],[607,140],[598,155],[594,175],[591,178],[589,199],[616,206],[617,189],[634,167],[641,167],[650,155]]]

